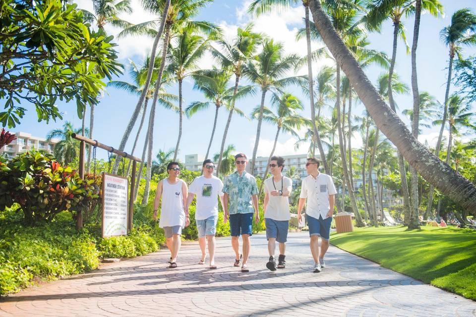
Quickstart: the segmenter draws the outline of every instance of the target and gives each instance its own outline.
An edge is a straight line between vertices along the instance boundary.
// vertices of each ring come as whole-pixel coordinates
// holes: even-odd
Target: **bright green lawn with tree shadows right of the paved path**
[[[331,244],[397,272],[476,300],[476,231],[422,227],[356,228]]]

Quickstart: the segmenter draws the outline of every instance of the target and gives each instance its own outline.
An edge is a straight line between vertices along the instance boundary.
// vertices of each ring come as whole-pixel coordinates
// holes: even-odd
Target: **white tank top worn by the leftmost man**
[[[185,226],[185,211],[183,209],[183,180],[170,184],[167,178],[162,181],[162,206],[159,227]]]

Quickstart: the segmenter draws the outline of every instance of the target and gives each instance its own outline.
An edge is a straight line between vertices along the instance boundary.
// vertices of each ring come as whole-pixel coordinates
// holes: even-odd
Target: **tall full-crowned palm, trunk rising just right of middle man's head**
[[[250,170],[254,173],[256,152],[258,151],[259,137],[261,134],[261,122],[263,121],[264,100],[268,91],[281,90],[291,84],[299,85],[303,78],[298,76],[283,77],[288,71],[294,69],[299,61],[296,54],[283,56],[284,48],[282,43],[275,43],[273,40],[265,40],[262,51],[248,62],[244,67],[244,75],[261,90],[261,104],[258,113],[258,127],[256,129],[256,140],[254,142],[253,157]]]

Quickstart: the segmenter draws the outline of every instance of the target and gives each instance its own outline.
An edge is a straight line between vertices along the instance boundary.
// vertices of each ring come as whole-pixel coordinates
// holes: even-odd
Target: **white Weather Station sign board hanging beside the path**
[[[127,234],[127,178],[103,173],[103,238]]]

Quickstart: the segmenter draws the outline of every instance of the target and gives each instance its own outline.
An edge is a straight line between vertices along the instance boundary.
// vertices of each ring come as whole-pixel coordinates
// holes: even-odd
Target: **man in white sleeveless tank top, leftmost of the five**
[[[188,211],[184,206],[187,202],[187,184],[179,178],[180,167],[177,162],[167,165],[169,176],[157,185],[154,199],[154,220],[162,198],[159,227],[164,228],[167,248],[170,251],[169,268],[177,267],[177,256],[180,250],[182,228],[190,224]]]

